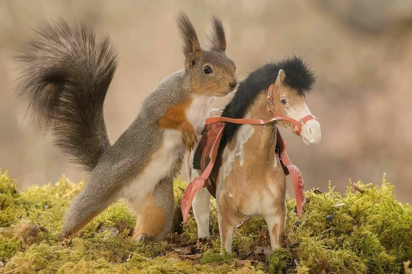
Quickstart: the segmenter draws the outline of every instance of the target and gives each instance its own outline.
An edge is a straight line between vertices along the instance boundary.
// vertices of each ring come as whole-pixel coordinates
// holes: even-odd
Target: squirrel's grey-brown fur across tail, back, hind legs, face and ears
[[[185,69],[166,77],[150,92],[139,115],[113,145],[103,119],[105,95],[117,66],[117,54],[108,37],[96,38],[84,24],[69,25],[63,20],[43,23],[16,57],[23,71],[16,94],[27,104],[33,122],[51,131],[56,145],[87,171],[84,189],[66,212],[62,237],[80,230],[120,198],[122,189],[153,160],[164,135],[157,120],[169,107],[192,96],[194,81],[198,86],[206,83],[206,76],[195,71],[202,66],[201,60],[216,65],[225,77],[234,77],[234,63],[224,53],[222,37],[212,39],[211,50],[204,51],[187,16],[180,13],[177,23],[184,40]],[[213,17],[212,23],[216,35],[223,35],[224,39],[220,20]],[[215,45],[216,41],[220,45]],[[219,88],[221,92],[226,87]],[[176,153],[163,178],[142,182],[156,184],[154,200],[166,215],[164,230],[156,238],[163,237],[172,225],[172,183],[182,166],[184,149]]]

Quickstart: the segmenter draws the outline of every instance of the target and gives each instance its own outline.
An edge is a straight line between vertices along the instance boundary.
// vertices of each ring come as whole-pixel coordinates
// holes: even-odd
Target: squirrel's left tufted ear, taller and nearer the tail
[[[186,66],[193,67],[199,60],[201,48],[197,39],[196,31],[192,23],[184,12],[179,12],[176,16],[176,24],[178,26],[180,37],[183,40],[183,53],[186,58]]]

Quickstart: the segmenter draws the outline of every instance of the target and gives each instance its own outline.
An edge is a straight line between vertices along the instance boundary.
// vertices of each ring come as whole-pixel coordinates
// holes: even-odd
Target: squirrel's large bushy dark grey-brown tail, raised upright
[[[108,37],[84,24],[43,23],[16,56],[16,95],[72,161],[92,170],[110,147],[103,104],[117,67]]]

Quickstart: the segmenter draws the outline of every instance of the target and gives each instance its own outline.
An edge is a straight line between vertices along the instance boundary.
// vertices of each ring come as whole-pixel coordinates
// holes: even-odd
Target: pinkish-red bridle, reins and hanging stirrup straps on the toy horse
[[[267,101],[268,101],[267,112],[270,115],[270,119],[268,120],[246,119],[246,118],[233,119],[233,118],[222,117],[222,116],[210,117],[205,120],[206,124],[211,125],[211,129],[209,130],[209,132],[211,135],[215,137],[215,140],[213,142],[213,145],[209,153],[210,162],[208,163],[208,166],[204,169],[200,177],[196,177],[194,178],[192,182],[190,182],[190,184],[187,186],[185,190],[185,193],[183,194],[182,200],[180,202],[180,206],[181,206],[181,210],[183,214],[183,223],[186,223],[187,218],[189,216],[189,210],[190,210],[190,206],[192,205],[194,195],[198,191],[200,191],[203,187],[206,187],[205,182],[208,179],[209,175],[211,174],[213,166],[215,165],[215,161],[218,156],[220,140],[222,138],[223,129],[225,128],[226,122],[234,123],[234,124],[267,124],[269,122],[286,120],[288,121],[288,126],[293,131],[293,133],[295,133],[298,136],[301,136],[300,134],[302,131],[302,126],[307,121],[312,120],[312,119],[318,120],[312,114],[303,117],[299,121],[293,118],[290,118],[286,115],[283,115],[283,113],[281,113],[273,105],[273,102],[272,102],[273,88],[274,88],[274,83],[272,83],[269,86],[268,91],[267,91]],[[283,139],[283,136],[281,137],[282,137],[284,147],[286,148],[287,143]],[[295,190],[295,196],[296,196],[297,215],[300,218],[302,215],[302,206],[305,201],[302,174],[300,173],[300,170],[297,168],[297,166],[294,166],[292,162],[290,161],[288,154],[286,153],[286,149],[283,149],[283,151],[280,152],[280,154],[281,154],[280,156],[281,156],[283,164],[286,166],[286,168],[288,168],[289,174],[292,176],[292,183],[293,183],[293,188]]]

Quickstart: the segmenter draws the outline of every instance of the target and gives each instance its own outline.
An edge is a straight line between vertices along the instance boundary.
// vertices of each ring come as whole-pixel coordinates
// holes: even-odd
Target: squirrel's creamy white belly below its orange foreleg
[[[138,200],[151,193],[157,183],[168,175],[179,155],[185,152],[182,135],[177,129],[165,129],[162,147],[155,152],[150,163],[136,179],[122,189],[122,196],[133,201],[133,206],[138,206]]]

